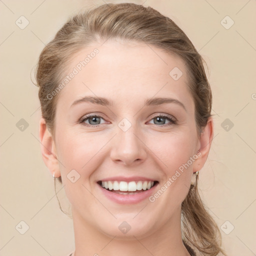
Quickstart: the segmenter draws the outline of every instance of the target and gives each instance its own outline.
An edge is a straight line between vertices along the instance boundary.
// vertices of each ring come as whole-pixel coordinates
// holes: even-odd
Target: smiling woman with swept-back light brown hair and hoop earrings
[[[36,80],[43,160],[72,205],[70,255],[224,254],[197,191],[211,90],[171,19],[133,3],[81,11],[42,50]]]

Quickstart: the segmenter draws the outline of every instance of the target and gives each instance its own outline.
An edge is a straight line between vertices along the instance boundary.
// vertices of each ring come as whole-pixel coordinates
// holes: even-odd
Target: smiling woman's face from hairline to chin
[[[61,175],[73,217],[120,237],[177,220],[204,163],[184,62],[152,45],[108,40],[80,50],[65,75],[56,92],[58,161],[47,165]]]

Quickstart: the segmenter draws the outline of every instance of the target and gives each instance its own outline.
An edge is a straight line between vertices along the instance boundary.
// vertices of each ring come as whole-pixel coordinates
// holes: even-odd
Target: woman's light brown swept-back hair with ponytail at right
[[[54,138],[55,105],[60,93],[47,95],[58,86],[74,53],[93,42],[108,38],[145,42],[182,58],[189,76],[188,87],[194,99],[197,133],[211,116],[211,89],[203,59],[186,34],[168,17],[134,3],[108,3],[82,10],[72,16],[43,48],[36,67],[36,82],[42,117]],[[59,182],[61,177],[57,178]],[[200,199],[197,182],[191,185],[181,204],[182,233],[185,241],[204,255],[226,255],[221,234]]]

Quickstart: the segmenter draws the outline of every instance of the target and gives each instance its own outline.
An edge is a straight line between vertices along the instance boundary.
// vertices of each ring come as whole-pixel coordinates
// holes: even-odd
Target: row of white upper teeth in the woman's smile
[[[109,190],[136,191],[150,189],[154,181],[101,181],[101,186]]]

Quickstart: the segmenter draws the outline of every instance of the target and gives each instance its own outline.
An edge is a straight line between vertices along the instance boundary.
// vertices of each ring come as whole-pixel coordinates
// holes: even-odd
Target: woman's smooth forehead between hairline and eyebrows
[[[184,61],[153,45],[107,40],[78,51],[68,63],[70,76],[57,104],[71,105],[84,95],[107,96],[114,102],[172,96],[191,104]],[[64,78],[63,78],[64,79]],[[66,78],[67,79],[67,78]]]

